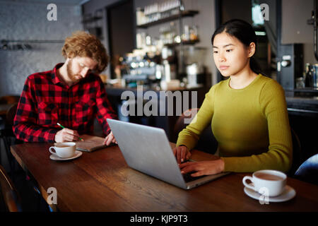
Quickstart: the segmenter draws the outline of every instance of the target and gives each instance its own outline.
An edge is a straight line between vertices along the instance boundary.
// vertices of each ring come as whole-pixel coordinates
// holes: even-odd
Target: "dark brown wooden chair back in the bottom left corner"
[[[22,211],[20,204],[20,196],[14,187],[11,179],[6,174],[4,167],[0,165],[0,202],[2,201],[0,211],[20,212]]]

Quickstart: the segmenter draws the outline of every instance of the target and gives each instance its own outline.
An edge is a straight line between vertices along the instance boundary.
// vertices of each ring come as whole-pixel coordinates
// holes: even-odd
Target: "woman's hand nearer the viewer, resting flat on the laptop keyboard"
[[[184,162],[180,165],[181,173],[194,172],[192,177],[202,175],[218,174],[224,170],[224,161],[222,159],[200,162]]]

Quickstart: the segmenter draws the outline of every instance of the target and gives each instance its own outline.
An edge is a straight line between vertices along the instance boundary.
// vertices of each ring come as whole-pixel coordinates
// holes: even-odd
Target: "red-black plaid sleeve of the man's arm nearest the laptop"
[[[102,130],[105,134],[110,133],[110,126],[107,124],[106,119],[117,119],[117,115],[115,114],[114,110],[112,109],[112,105],[110,105],[109,100],[107,99],[107,94],[105,90],[105,86],[100,80],[98,79],[98,87],[96,93],[96,104],[98,108],[97,119],[98,122],[102,125]]]

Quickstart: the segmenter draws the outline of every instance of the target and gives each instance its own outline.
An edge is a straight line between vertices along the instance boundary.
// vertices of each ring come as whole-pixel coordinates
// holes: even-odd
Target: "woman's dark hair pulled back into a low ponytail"
[[[249,44],[251,42],[255,43],[255,52],[257,47],[257,36],[255,35],[255,31],[249,23],[247,23],[244,20],[239,19],[233,19],[228,20],[228,22],[223,23],[223,25],[220,25],[218,29],[214,32],[211,38],[211,43],[213,45],[214,37],[216,35],[226,32],[228,35],[232,37],[236,37],[237,40],[240,40],[243,44],[245,44],[246,47],[249,47]],[[249,66],[251,67],[252,71],[255,73],[260,73],[261,68],[257,61],[254,59],[254,57],[251,57],[249,60]]]

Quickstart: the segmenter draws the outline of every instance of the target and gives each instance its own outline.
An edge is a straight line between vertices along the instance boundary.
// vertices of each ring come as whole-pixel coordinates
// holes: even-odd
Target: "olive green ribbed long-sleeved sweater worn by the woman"
[[[177,146],[194,148],[211,124],[225,172],[276,169],[287,172],[293,143],[281,85],[259,74],[242,89],[230,79],[213,85],[191,124],[179,133]]]

